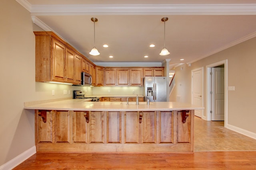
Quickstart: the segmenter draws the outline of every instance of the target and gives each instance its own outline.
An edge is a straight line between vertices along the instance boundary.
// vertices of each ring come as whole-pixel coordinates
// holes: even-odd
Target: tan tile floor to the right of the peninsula
[[[194,150],[254,150],[256,139],[252,139],[230,129],[224,128],[224,121],[205,121],[194,118]]]

